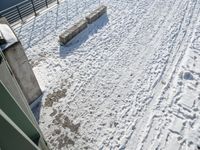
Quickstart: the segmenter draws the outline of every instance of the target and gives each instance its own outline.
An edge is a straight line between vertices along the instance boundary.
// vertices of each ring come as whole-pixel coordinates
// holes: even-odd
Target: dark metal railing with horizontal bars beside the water
[[[40,9],[48,8],[53,2],[59,4],[59,0],[28,0],[1,11],[0,17],[6,17],[10,24],[17,21],[24,22],[26,17],[33,14],[37,16]]]

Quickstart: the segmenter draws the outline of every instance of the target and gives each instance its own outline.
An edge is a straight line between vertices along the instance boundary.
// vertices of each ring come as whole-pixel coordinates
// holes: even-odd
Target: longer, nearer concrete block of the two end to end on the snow
[[[59,36],[60,43],[63,45],[67,44],[72,38],[74,38],[85,28],[87,28],[87,21],[82,19]]]

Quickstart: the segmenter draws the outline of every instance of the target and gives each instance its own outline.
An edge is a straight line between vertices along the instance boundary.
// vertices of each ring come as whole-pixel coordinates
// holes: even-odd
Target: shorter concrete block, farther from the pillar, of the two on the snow
[[[95,11],[93,11],[92,13],[90,13],[88,16],[86,16],[86,20],[89,24],[91,24],[92,22],[96,21],[98,18],[100,18],[104,13],[106,13],[107,11],[107,7],[102,5],[100,7],[98,7]]]

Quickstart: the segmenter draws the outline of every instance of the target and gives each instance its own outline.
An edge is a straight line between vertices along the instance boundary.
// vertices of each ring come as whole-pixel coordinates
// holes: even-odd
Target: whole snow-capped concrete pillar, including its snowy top
[[[6,44],[0,45],[0,51],[11,70],[11,74],[16,79],[23,95],[30,104],[42,95],[42,91],[23,46],[6,23],[4,19],[0,19],[0,32],[6,40]]]

